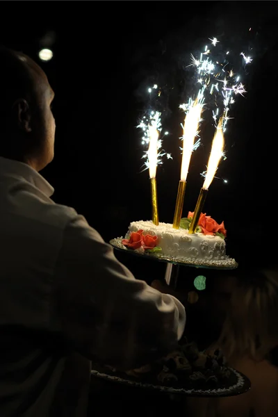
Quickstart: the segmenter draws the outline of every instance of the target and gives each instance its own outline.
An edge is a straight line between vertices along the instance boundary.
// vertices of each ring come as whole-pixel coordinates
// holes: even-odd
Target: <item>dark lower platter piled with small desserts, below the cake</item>
[[[195,343],[181,341],[174,352],[139,369],[120,372],[92,366],[92,375],[115,382],[187,395],[236,395],[250,388],[249,380],[229,368],[220,350],[199,352]]]

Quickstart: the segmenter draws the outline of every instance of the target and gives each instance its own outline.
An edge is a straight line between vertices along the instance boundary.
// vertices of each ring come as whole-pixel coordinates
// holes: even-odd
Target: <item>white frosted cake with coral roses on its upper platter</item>
[[[131,222],[120,245],[165,261],[236,268],[236,261],[226,254],[224,222],[218,224],[211,216],[202,213],[195,233],[190,234],[193,215],[189,212],[187,218],[182,218],[179,229],[174,229],[170,223],[160,222],[156,226],[152,221]]]

